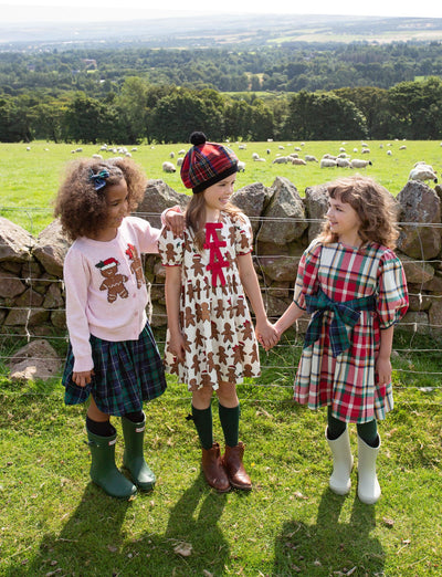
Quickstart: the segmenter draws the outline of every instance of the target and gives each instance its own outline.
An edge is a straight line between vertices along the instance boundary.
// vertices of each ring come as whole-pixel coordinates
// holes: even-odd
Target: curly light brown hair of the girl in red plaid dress
[[[364,243],[371,241],[389,249],[396,248],[399,204],[386,188],[372,178],[355,175],[329,182],[327,191],[330,198],[348,202],[357,212],[361,222],[358,232]],[[318,238],[325,243],[338,241],[328,220],[324,222]]]

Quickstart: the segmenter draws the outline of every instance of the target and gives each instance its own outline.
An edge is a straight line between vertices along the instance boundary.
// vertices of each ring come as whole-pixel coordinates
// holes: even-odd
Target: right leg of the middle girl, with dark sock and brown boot
[[[244,444],[239,441],[240,402],[236,387],[232,382],[220,382],[217,390],[219,415],[225,440],[223,463],[228,472],[230,484],[235,489],[250,491],[252,482],[243,465]]]

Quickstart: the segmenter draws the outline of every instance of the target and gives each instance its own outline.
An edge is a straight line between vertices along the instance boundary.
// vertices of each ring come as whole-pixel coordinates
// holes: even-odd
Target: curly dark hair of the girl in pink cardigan
[[[96,190],[90,177],[102,170],[107,170],[109,176],[105,178],[105,186]],[[103,227],[107,214],[106,187],[123,179],[127,183],[130,213],[143,199],[147,182],[143,169],[131,158],[81,158],[67,165],[55,199],[54,217],[60,217],[63,231],[71,240],[94,235]]]

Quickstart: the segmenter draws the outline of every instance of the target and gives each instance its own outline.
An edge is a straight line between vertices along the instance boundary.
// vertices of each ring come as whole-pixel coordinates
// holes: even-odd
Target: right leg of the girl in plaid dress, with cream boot
[[[380,449],[380,437],[376,420],[360,423],[358,429],[358,496],[362,503],[372,505],[381,494],[376,474],[376,459]]]

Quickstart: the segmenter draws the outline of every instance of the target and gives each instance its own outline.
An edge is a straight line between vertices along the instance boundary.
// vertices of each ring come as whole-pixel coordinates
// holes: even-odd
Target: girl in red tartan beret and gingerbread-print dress
[[[208,143],[202,133],[193,133],[190,141],[193,147],[181,165],[181,179],[193,192],[185,234],[164,230],[159,241],[166,266],[166,369],[192,391],[190,418],[201,441],[208,483],[219,492],[231,486],[250,490],[235,385],[260,375],[260,358],[245,294],[262,342],[272,346],[277,339],[253,269],[250,221],[229,202],[238,158],[229,148]],[[213,390],[225,440],[223,457],[212,436]]]

